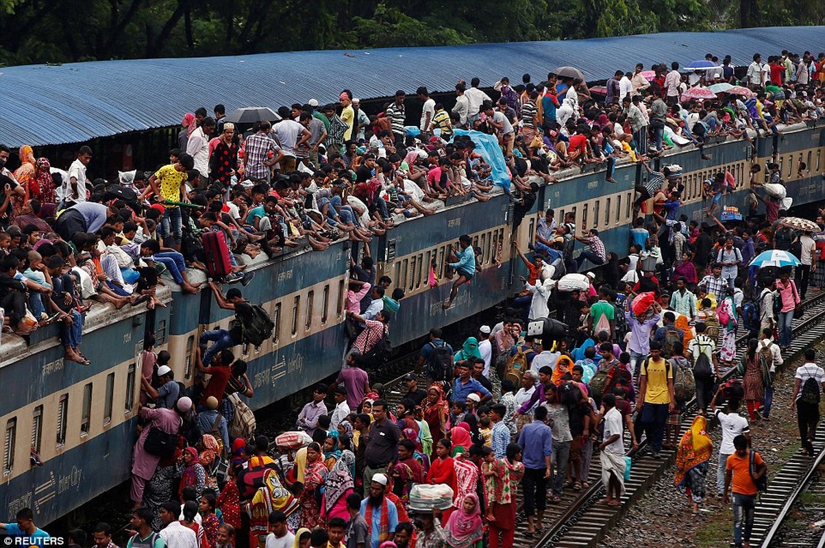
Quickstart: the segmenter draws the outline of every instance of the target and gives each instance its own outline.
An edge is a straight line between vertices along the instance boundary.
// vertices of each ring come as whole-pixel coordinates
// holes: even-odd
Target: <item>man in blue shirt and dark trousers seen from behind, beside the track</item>
[[[553,456],[553,431],[544,424],[547,420],[547,408],[543,405],[535,408],[533,422],[521,428],[518,444],[521,446],[521,461],[524,463],[524,513],[527,516],[527,533],[535,532],[534,515],[538,513],[539,523],[544,518],[547,508],[547,480],[550,477],[551,457]]]

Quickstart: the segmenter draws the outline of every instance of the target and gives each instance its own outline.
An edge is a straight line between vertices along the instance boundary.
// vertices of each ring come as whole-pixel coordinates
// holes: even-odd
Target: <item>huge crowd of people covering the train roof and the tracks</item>
[[[733,483],[736,542],[747,543],[757,488],[742,479],[742,451],[751,443],[749,424],[770,420],[775,368],[790,345],[797,307],[825,284],[825,220],[816,218],[818,230],[783,224],[782,201],[755,188],[762,168],[754,164],[746,220],[717,220],[732,177],[720,172],[705,184],[705,220],[688,222],[679,211],[679,172],[655,172],[647,160],[685,144],[704,154],[712,136],[749,139],[747,130],[776,134],[780,123],[820,116],[825,54],[785,52],[766,65],[755,56],[747,87],[705,100],[692,99],[690,90],[735,83],[729,57],[691,74],[677,63],[670,71],[656,65],[649,75],[643,68],[615,73],[603,101],[581,78],[554,73],[535,84],[526,74],[516,86],[502,78],[495,100],[478,78],[469,87],[462,81],[450,111],[419,87],[422,116],[412,127],[403,91],[376,116],[349,90],[335,104],[282,106],[275,124],[262,120],[243,135],[224,120],[223,106],[214,117],[199,108],[183,117],[167,164],[122,172],[111,183],[87,177],[88,147],[67,171],[21,147],[20,167],[0,174],[6,328],[26,335],[59,322],[66,359],[87,365],[80,344],[90,300],[164,306],[155,295],[164,272],[181,291],[201,291],[191,269],[207,273],[219,306],[239,320],[203,333],[191,388],[174,379],[168,352],[145,345],[127,546],[512,546],[518,489],[526,534],[536,535],[548,503],[587,488],[597,453],[605,503],[620,505],[626,442],[637,446],[643,435],[654,457],[677,448],[676,484],[690,489],[695,513],[706,494],[710,413],[724,432],[716,494],[727,498]],[[391,406],[369,370],[386,355],[403,290],[386,295],[393,281],[376,281],[365,253],[360,264],[351,261],[349,351],[335,382],[314,388],[295,432],[276,438],[276,451],[264,436],[230,436],[233,401],[253,393],[233,347],[247,336],[255,310],[238,287],[224,294],[217,282],[245,286],[252,274],[238,260],[244,255],[272,257],[302,245],[323,251],[337,239],[369,242],[393,228],[395,215],[431,215],[449,196],[487,200],[490,158],[457,130],[496,136],[512,182],[505,190],[525,212],[530,196],[535,200],[532,181],[554,182],[559,169],[606,163],[612,182],[616,160],[643,162],[649,173],[636,189],[627,257],[608,252],[596,229],[577,233],[572,216],[559,223],[547,210],[530,257],[513,243],[529,274],[505,318],[480,326],[457,351],[432,328],[406,394]],[[0,145],[3,166],[10,152]],[[778,166],[765,171],[770,184],[781,185]],[[573,257],[577,241],[587,248]],[[752,264],[768,249],[794,253],[801,264]],[[587,272],[583,286],[565,286],[565,276],[585,261],[597,272]],[[471,240],[462,236],[448,264],[458,277],[446,307],[474,265]],[[549,302],[568,336],[542,341],[526,334],[526,324],[546,318]],[[742,333],[751,338],[738,357]],[[825,382],[814,358],[797,372],[794,390],[805,451],[813,451],[818,422],[814,389],[818,401]],[[742,381],[719,385],[733,367]],[[422,376],[431,383],[424,388]],[[679,439],[681,406],[694,394],[700,415]],[[738,413],[742,400],[747,418]],[[449,508],[413,508],[422,484],[448,485]],[[42,532],[31,511],[4,527]],[[111,527],[101,523],[93,533],[97,546],[113,548]],[[82,545],[81,536],[73,531],[72,539]]]

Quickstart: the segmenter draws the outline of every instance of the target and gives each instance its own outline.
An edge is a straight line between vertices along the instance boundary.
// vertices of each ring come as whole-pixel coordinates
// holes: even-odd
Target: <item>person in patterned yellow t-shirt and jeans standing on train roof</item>
[[[177,163],[170,163],[158,169],[152,177],[149,177],[148,186],[140,193],[139,200],[143,200],[148,194],[154,193],[158,201],[183,201],[188,202],[186,196],[187,172],[195,167],[195,160],[189,155],[181,153],[177,157]],[[158,223],[158,236],[164,245],[181,250],[181,239],[183,238],[183,219],[181,208],[170,204],[163,205],[163,218]],[[165,243],[164,239],[172,237],[170,243]]]

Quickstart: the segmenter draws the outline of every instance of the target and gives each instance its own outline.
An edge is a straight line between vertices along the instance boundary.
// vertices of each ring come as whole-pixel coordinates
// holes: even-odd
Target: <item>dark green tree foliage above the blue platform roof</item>
[[[0,62],[460,45],[823,20],[825,0],[0,0]]]

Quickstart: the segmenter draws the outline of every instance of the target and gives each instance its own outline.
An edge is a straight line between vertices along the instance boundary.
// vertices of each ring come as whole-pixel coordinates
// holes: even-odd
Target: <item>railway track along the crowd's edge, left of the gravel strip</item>
[[[804,315],[801,319],[794,319],[794,336],[790,345],[790,354],[795,354],[804,350],[810,343],[820,338],[813,327],[825,323],[825,293],[820,293],[806,300],[803,303]],[[737,347],[740,355],[747,343],[747,333],[737,340]],[[786,354],[787,357],[787,354]],[[787,359],[787,358],[786,358]],[[728,371],[724,379],[734,376],[735,368]],[[420,376],[421,381],[426,379]],[[384,384],[387,399],[391,404],[398,402],[406,390],[403,384],[403,376],[391,380]],[[696,413],[696,402],[692,399],[686,404],[682,413],[681,432],[690,428]],[[825,432],[820,439],[825,440]],[[625,443],[629,445],[629,439],[625,438]],[[562,501],[559,504],[548,504],[542,522],[543,530],[539,536],[528,536],[526,534],[526,519],[521,514],[517,517],[516,546],[534,546],[535,548],[582,548],[595,547],[606,536],[610,527],[620,520],[629,508],[647,493],[653,484],[662,477],[668,466],[675,460],[675,450],[662,449],[661,459],[653,459],[647,451],[647,442],[641,442],[636,451],[628,453],[631,456],[633,465],[630,473],[630,480],[625,482],[626,494],[621,498],[621,506],[607,507],[598,504],[604,497],[604,488],[601,485],[601,467],[597,454],[594,451],[590,472],[587,477],[589,487],[581,491],[566,489]],[[821,453],[822,454],[822,453]],[[798,455],[800,456],[800,455]],[[796,456],[794,456],[795,458]],[[800,456],[801,457],[801,456]],[[792,459],[793,461],[794,459]],[[810,458],[808,457],[808,461]],[[790,462],[790,461],[789,461]],[[804,464],[804,463],[803,463]],[[810,467],[810,465],[808,466]],[[771,489],[772,491],[773,489]],[[777,487],[777,491],[779,491]],[[519,492],[521,503],[521,491]],[[766,503],[765,515],[768,516],[770,501]],[[825,503],[823,503],[825,506]],[[757,510],[757,512],[759,512]],[[758,514],[757,515],[761,515]],[[769,517],[767,517],[769,518]],[[774,518],[775,521],[775,518]],[[764,526],[764,522],[761,522]],[[756,526],[755,526],[756,527]],[[770,523],[769,523],[770,527]],[[754,537],[756,538],[756,537]],[[823,537],[825,542],[825,537]],[[760,546],[752,542],[751,546]],[[766,547],[768,545],[765,545]],[[813,546],[808,544],[805,546]],[[825,544],[823,544],[825,548]]]

